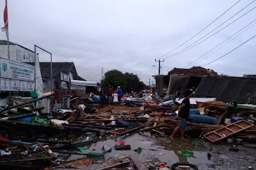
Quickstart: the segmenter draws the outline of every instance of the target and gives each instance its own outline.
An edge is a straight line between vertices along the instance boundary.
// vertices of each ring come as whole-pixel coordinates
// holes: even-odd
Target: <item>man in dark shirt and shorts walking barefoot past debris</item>
[[[186,90],[184,95],[185,95],[185,98],[180,104],[178,109],[178,114],[177,114],[177,116],[179,116],[178,126],[173,130],[172,135],[170,135],[170,139],[173,142],[174,142],[174,135],[177,134],[179,130],[181,134],[180,135],[181,141],[188,141],[187,139],[184,138],[184,134],[185,134],[185,127],[187,125],[187,121],[189,118],[189,106],[190,106],[189,98],[192,97],[192,91]]]

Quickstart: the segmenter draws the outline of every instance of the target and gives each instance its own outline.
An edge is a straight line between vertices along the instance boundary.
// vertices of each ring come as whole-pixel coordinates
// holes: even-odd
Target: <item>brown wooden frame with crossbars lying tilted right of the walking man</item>
[[[237,124],[242,124],[243,127],[240,126],[240,125],[237,125]],[[216,141],[220,141],[221,139],[224,139],[224,138],[226,138],[226,137],[228,137],[228,136],[230,136],[230,135],[236,134],[237,132],[241,132],[241,131],[245,130],[246,128],[250,128],[250,127],[253,127],[253,126],[254,126],[254,125],[253,125],[252,123],[248,122],[248,121],[240,120],[240,121],[236,121],[236,122],[234,122],[234,123],[232,123],[232,124],[230,124],[230,125],[227,125],[227,126],[225,126],[225,127],[221,127],[221,128],[218,128],[217,130],[214,130],[214,131],[212,131],[212,132],[209,132],[209,133],[205,134],[204,137],[205,137],[206,139],[208,139],[209,141],[211,141],[212,143],[214,143],[214,142],[216,142]],[[228,128],[228,127],[230,127],[230,128],[235,127],[235,128],[230,129],[230,128]],[[237,127],[237,128],[236,128],[236,127]],[[227,130],[225,131],[224,129],[227,129],[228,131],[230,131],[230,133],[228,133],[228,131],[227,131]],[[218,133],[218,132],[220,132],[221,130],[223,130],[223,134],[225,133],[225,136],[220,135],[220,134]],[[214,136],[214,135],[212,135],[212,134],[220,135],[221,137],[217,137],[216,135]],[[214,139],[212,139],[211,136],[212,136]]]

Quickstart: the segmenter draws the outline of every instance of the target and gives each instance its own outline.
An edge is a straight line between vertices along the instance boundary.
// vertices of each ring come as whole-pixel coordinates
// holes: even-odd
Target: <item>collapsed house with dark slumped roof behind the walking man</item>
[[[156,75],[157,93],[181,97],[185,89],[194,89],[195,98],[216,98],[222,102],[256,104],[255,75],[224,77],[214,70],[193,66],[173,68],[168,75]]]

